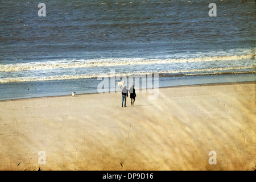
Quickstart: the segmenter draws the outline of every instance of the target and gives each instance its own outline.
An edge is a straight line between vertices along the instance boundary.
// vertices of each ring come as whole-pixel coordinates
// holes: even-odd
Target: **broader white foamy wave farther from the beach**
[[[233,55],[233,56],[213,56],[198,58],[180,59],[89,59],[89,60],[59,60],[32,63],[18,63],[0,65],[0,72],[18,72],[44,69],[65,69],[65,68],[86,68],[86,67],[111,67],[122,65],[142,65],[142,64],[168,64],[168,63],[192,63],[202,61],[228,61],[241,59],[254,59],[255,54]]]

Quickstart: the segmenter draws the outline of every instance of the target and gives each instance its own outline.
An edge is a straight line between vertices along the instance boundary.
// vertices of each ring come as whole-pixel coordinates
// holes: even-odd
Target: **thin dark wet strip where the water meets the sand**
[[[177,86],[162,86],[160,88],[180,88],[180,87],[193,87],[193,86],[214,86],[214,85],[236,85],[236,84],[254,84],[256,81],[236,81],[236,82],[217,82],[217,83],[209,83],[209,84],[193,84],[193,85],[177,85]],[[147,90],[147,89],[138,89],[139,92],[141,93],[142,90]],[[119,90],[120,91],[120,90]],[[138,92],[138,91],[137,91]],[[110,93],[110,92],[107,92]],[[115,91],[115,93],[118,93],[118,91]],[[102,93],[81,93],[81,94],[76,94],[76,96],[82,96],[82,95],[89,95],[89,94],[102,94]],[[65,95],[59,95],[59,96],[39,96],[39,97],[27,97],[27,98],[10,98],[6,100],[0,100],[0,102],[8,102],[8,101],[15,101],[15,100],[27,100],[27,99],[36,99],[36,98],[47,98],[47,97],[68,97],[71,96],[71,94],[65,94]],[[75,97],[76,97],[75,96]]]

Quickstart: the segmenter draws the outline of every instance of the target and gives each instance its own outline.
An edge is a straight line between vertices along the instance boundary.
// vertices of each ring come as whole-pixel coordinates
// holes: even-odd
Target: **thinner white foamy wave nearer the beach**
[[[0,83],[7,82],[30,82],[30,81],[52,81],[52,80],[75,80],[82,78],[103,78],[103,77],[129,77],[129,76],[145,76],[159,74],[159,77],[177,77],[177,76],[203,76],[203,75],[233,75],[256,73],[256,71],[233,72],[238,69],[255,69],[253,67],[233,67],[233,68],[210,68],[210,69],[189,69],[159,72],[133,72],[133,73],[101,73],[101,74],[84,74],[84,75],[62,75],[49,77],[9,77],[0,78]],[[221,72],[222,71],[222,72]],[[229,72],[225,72],[229,71]]]

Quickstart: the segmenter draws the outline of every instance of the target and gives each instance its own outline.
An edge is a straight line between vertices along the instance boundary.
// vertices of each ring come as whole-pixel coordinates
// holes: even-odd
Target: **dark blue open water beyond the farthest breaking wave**
[[[255,51],[254,1],[210,1],[216,17],[207,1],[40,2],[0,2],[1,64]]]

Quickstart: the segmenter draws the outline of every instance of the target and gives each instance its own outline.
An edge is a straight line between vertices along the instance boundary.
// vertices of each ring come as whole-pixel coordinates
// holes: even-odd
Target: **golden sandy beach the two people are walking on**
[[[137,90],[127,107],[120,93],[0,101],[0,169],[254,170],[255,88]]]

